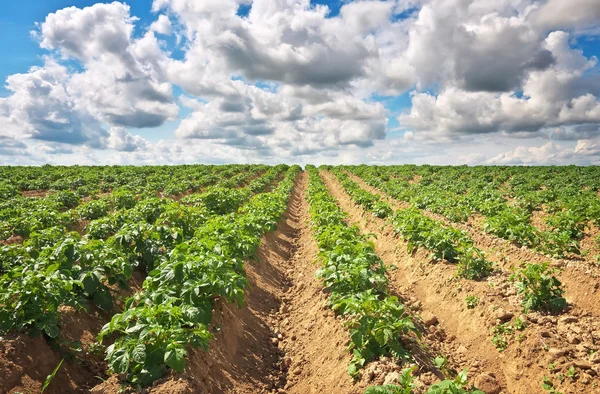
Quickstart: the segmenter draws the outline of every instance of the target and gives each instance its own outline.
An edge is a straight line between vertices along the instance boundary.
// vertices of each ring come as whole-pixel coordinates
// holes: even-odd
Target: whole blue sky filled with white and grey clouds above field
[[[597,0],[21,0],[0,37],[0,165],[600,164]]]

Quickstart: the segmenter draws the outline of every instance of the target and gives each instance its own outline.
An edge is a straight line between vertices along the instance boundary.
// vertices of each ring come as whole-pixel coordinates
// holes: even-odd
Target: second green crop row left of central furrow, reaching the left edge
[[[89,299],[110,310],[111,286],[127,288],[134,269],[153,270],[196,227],[233,212],[283,169],[273,167],[242,190],[215,186],[195,196],[195,206],[156,197],[134,199],[134,206],[109,215],[114,226],[98,219],[101,225],[92,222],[84,237],[51,227],[33,233],[23,245],[2,247],[0,330],[55,338],[61,306],[87,309]]]

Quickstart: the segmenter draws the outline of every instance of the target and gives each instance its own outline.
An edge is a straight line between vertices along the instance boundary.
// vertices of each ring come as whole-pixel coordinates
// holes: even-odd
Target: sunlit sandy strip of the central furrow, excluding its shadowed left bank
[[[307,184],[304,172],[298,198],[290,203],[294,220],[289,224],[296,232],[296,252],[280,262],[292,282],[280,311],[280,347],[286,354],[282,369],[288,376],[283,392],[362,393],[364,386],[355,385],[346,372],[350,362],[347,331],[327,306],[327,294],[314,275],[319,250],[310,229]]]

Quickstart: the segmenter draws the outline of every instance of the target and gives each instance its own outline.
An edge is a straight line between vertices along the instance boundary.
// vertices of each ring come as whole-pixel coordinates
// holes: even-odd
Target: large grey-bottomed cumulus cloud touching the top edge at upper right
[[[553,63],[541,41],[526,13],[508,2],[437,0],[411,26],[404,61],[423,87],[505,92]]]

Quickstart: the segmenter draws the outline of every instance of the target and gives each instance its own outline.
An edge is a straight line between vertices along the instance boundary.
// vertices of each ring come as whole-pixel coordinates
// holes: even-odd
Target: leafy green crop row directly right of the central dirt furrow
[[[313,232],[319,245],[322,268],[317,271],[330,293],[329,305],[343,316],[350,334],[352,352],[348,372],[357,377],[366,363],[381,356],[410,361],[403,343],[420,337],[412,317],[397,297],[389,294],[387,268],[373,243],[356,226],[346,223],[347,214],[327,191],[315,167],[310,174],[308,201]],[[412,334],[412,335],[411,335]],[[367,394],[411,393],[413,368],[403,370],[396,384],[372,386]],[[472,393],[466,388],[466,372],[427,389],[427,394]]]

